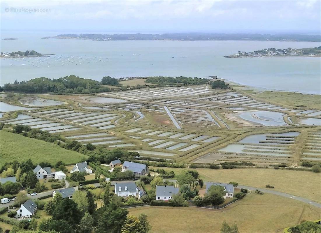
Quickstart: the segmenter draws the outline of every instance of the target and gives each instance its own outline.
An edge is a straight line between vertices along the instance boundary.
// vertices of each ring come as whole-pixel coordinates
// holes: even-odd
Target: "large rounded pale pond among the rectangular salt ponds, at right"
[[[246,121],[255,122],[265,126],[280,126],[286,125],[283,120],[285,114],[281,112],[269,111],[250,111],[242,112],[239,117]]]

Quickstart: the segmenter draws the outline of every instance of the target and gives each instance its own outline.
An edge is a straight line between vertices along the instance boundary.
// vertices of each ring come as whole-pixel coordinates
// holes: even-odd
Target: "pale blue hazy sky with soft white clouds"
[[[0,0],[1,31],[321,33],[321,0]]]

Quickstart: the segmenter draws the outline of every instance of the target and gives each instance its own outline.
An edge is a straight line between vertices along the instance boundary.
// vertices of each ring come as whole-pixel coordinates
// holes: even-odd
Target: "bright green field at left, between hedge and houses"
[[[63,149],[53,143],[23,137],[3,130],[0,131],[0,148],[0,166],[5,162],[27,159],[31,159],[35,164],[39,162],[53,164],[59,160],[68,164],[79,162],[83,157],[86,157],[86,155]]]

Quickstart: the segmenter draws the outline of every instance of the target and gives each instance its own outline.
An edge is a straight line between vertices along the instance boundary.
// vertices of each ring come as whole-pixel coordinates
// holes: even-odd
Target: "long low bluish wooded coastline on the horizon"
[[[60,34],[42,39],[110,40],[261,40],[261,41],[312,41],[321,42],[321,35],[276,34],[224,34],[224,33],[164,33],[164,34]]]

